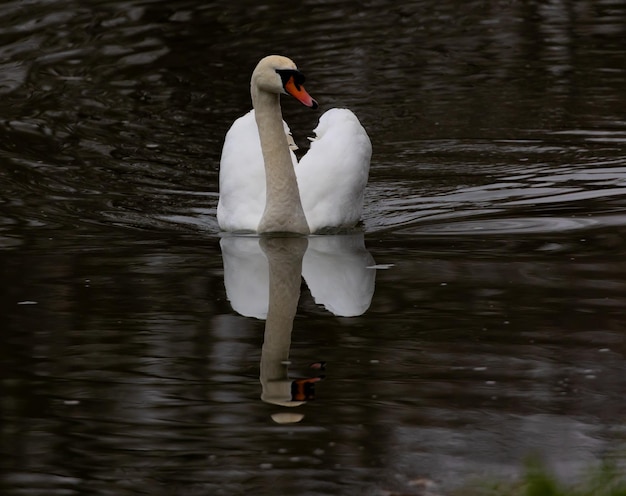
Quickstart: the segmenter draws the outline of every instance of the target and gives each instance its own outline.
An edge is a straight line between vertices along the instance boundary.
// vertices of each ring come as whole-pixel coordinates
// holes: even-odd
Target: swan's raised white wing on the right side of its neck
[[[296,167],[302,206],[312,232],[352,227],[361,218],[372,145],[348,109],[320,118],[316,138]]]

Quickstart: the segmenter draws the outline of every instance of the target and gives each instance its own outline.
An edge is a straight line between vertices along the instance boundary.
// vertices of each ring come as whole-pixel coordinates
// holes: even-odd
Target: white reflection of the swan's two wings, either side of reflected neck
[[[237,313],[265,319],[269,304],[268,260],[252,236],[224,236],[224,286]],[[368,308],[376,271],[363,234],[312,236],[302,262],[302,275],[316,303],[335,315],[352,317]],[[300,274],[298,274],[298,277]]]

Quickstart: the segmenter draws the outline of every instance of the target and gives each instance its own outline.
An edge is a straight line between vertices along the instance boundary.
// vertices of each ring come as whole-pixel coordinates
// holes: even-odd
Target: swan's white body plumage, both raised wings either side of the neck
[[[289,127],[283,124],[291,138]],[[314,132],[316,137],[300,163],[291,152],[307,223],[311,232],[352,227],[363,211],[372,154],[369,137],[348,109],[324,113]],[[256,231],[265,193],[263,155],[252,110],[237,119],[226,134],[217,207],[221,229]]]

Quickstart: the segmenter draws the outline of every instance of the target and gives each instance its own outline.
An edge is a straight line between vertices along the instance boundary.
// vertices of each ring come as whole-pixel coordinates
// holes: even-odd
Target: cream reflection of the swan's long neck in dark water
[[[263,238],[261,248],[267,257],[270,274],[270,301],[261,350],[261,399],[283,406],[291,401],[291,381],[287,375],[293,319],[300,299],[302,256],[305,238]]]

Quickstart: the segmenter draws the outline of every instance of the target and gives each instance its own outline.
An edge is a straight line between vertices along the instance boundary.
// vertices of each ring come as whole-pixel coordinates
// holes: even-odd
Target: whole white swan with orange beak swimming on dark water
[[[303,81],[293,61],[279,55],[265,57],[252,73],[254,110],[233,123],[222,150],[217,206],[222,230],[309,234],[353,227],[361,218],[369,137],[350,110],[331,109],[298,163],[280,95],[317,108]]]

